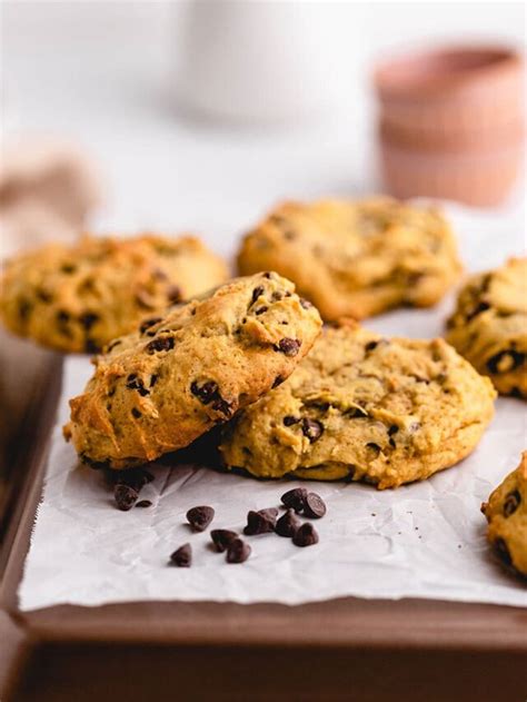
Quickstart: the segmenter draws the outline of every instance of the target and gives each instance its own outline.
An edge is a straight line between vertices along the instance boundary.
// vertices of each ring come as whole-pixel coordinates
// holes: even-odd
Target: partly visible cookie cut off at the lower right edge
[[[488,522],[487,538],[501,561],[527,576],[527,451],[481,512]]]

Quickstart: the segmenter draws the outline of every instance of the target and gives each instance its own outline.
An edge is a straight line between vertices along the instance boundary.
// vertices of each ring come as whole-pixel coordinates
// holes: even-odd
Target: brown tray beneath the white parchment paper
[[[525,701],[527,611],[517,607],[348,597],[302,606],[135,602],[20,612],[16,593],[61,359],[36,350],[28,357],[18,342],[10,345],[17,363],[23,356],[19,372],[34,379],[14,433],[0,550],[2,702]]]

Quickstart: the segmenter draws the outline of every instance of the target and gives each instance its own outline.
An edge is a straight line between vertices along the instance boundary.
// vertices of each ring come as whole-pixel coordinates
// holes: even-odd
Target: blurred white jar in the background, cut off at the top
[[[195,0],[183,14],[176,95],[223,120],[290,121],[339,101],[339,12],[332,3]],[[340,90],[342,87],[340,86]]]

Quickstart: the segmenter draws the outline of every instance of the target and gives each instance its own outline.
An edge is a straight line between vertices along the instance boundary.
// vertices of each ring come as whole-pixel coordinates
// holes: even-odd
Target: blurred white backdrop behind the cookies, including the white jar
[[[222,254],[285,198],[382,190],[372,71],[391,51],[525,46],[523,2],[3,2],[3,142],[96,167],[87,224]],[[97,189],[96,188],[96,189]],[[521,185],[504,207],[518,207]]]

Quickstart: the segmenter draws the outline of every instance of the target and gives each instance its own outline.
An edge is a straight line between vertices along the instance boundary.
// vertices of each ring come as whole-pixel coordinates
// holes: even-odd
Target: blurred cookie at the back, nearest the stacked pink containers
[[[328,320],[429,307],[460,273],[454,235],[436,209],[380,197],[286,202],[246,236],[238,267],[290,278]]]

